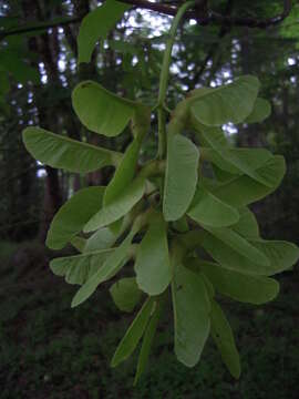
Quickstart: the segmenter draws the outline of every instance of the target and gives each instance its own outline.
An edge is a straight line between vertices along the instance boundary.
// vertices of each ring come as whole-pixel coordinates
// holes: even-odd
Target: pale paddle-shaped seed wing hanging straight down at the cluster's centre
[[[171,283],[167,224],[159,214],[153,216],[138,246],[135,273],[138,287],[148,295],[162,294]]]

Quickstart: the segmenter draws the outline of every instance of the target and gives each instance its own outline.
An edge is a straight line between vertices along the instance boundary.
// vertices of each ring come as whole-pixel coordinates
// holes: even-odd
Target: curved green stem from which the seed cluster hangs
[[[158,105],[157,105],[157,116],[158,116],[158,158],[163,158],[166,151],[166,127],[165,127],[165,109],[164,102],[167,92],[167,83],[169,76],[169,65],[171,65],[171,58],[172,58],[172,50],[175,41],[175,35],[177,31],[177,27],[179,21],[182,20],[184,13],[193,7],[195,1],[187,1],[185,2],[177,14],[175,16],[172,28],[169,30],[169,37],[166,41],[166,49],[163,58],[162,71],[159,75],[159,90],[158,90]]]

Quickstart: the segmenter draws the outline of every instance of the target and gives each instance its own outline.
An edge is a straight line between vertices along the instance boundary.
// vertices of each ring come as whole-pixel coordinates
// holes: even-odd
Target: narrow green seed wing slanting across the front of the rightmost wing
[[[264,252],[257,249],[254,245],[251,245],[246,238],[240,236],[235,231],[228,227],[207,227],[204,225],[204,228],[207,229],[215,237],[220,239],[226,245],[230,246],[240,255],[247,257],[251,262],[261,266],[270,266],[270,260],[264,254]]]

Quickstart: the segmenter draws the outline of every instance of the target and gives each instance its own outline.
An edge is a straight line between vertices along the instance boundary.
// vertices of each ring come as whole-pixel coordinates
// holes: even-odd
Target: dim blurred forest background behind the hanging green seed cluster
[[[280,276],[281,295],[275,303],[257,309],[227,301],[244,367],[239,381],[228,376],[213,347],[193,370],[176,364],[167,329],[169,310],[148,372],[135,389],[134,359],[109,369],[131,316],[121,317],[105,286],[89,304],[70,310],[74,289],[51,275],[48,262],[55,255],[43,243],[53,215],[79,188],[105,185],[112,170],[79,175],[44,166],[25,151],[21,132],[40,125],[123,151],[130,132],[115,139],[89,132],[72,110],[71,92],[83,79],[92,79],[154,105],[172,18],[134,7],[96,47],[92,63],[79,68],[80,22],[99,4],[0,0],[0,398],[298,398],[297,266]],[[208,1],[227,18],[257,20],[281,13],[282,6],[281,0]],[[168,106],[174,108],[195,88],[216,86],[247,73],[259,78],[271,116],[260,125],[229,124],[225,131],[236,145],[268,147],[285,156],[288,170],[281,186],[252,211],[265,237],[297,244],[298,66],[297,1],[283,21],[269,27],[200,25],[188,19],[174,47],[168,92]],[[156,140],[148,136],[143,157],[155,153]]]

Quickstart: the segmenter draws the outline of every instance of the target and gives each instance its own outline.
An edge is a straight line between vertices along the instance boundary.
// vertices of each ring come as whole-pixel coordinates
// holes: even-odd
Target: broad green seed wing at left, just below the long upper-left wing
[[[55,214],[47,236],[47,246],[61,249],[82,231],[102,204],[105,187],[78,191]]]

